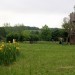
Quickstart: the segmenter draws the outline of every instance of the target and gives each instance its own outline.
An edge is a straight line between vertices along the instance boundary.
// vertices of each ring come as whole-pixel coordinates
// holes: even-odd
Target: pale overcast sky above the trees
[[[75,0],[0,0],[0,26],[4,23],[61,28],[74,11]]]

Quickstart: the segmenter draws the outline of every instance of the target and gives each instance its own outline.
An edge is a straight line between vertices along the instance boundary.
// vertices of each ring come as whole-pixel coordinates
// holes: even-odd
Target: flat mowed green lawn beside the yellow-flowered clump
[[[0,75],[75,75],[75,45],[20,43],[21,54]]]

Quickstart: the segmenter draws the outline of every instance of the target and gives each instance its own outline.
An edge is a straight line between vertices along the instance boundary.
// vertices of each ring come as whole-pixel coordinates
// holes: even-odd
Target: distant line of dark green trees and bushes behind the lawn
[[[37,41],[58,41],[59,38],[66,40],[67,32],[64,29],[49,28],[44,25],[41,29],[38,27],[30,27],[24,25],[9,26],[5,25],[0,27],[0,40],[1,41],[30,41],[30,43]]]

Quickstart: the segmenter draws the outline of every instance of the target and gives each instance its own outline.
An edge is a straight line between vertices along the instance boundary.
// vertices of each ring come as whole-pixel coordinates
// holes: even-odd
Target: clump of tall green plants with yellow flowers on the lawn
[[[9,65],[16,61],[19,47],[16,43],[2,43],[0,46],[0,64]]]

